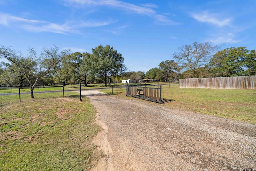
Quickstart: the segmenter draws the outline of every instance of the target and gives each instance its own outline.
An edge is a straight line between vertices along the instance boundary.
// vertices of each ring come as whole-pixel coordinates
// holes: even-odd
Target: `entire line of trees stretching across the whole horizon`
[[[219,50],[210,42],[184,45],[173,54],[174,60],[161,62],[144,72],[126,72],[122,54],[109,45],[92,48],[92,53],[59,52],[53,46],[38,54],[33,48],[24,56],[11,47],[0,47],[1,86],[30,86],[31,97],[36,85],[121,82],[125,79],[152,79],[160,82],[183,78],[207,78],[256,75],[256,51],[245,47]],[[218,51],[218,52],[217,52]]]

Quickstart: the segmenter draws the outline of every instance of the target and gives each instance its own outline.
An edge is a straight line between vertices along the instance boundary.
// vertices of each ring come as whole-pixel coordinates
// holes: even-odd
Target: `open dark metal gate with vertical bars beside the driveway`
[[[162,85],[126,85],[126,96],[162,102]]]

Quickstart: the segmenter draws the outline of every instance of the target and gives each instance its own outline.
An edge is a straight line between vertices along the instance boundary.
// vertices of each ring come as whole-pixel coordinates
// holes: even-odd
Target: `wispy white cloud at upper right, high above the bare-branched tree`
[[[192,18],[200,21],[200,22],[207,22],[210,24],[214,24],[219,27],[223,26],[231,26],[231,18],[220,18],[217,14],[209,14],[207,11],[201,13],[191,13]]]

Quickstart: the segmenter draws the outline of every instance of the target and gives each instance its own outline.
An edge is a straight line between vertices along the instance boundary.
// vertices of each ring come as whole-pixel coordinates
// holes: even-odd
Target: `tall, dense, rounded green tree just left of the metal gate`
[[[97,73],[104,80],[105,86],[107,86],[108,79],[111,84],[113,76],[118,76],[126,70],[122,54],[109,45],[100,45],[92,49],[92,63],[94,70],[92,72]]]

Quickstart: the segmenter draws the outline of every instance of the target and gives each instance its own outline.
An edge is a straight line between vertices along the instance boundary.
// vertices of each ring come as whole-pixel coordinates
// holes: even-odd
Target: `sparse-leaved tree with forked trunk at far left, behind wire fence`
[[[1,46],[0,57],[6,58],[19,68],[30,85],[30,97],[34,98],[34,87],[37,85],[38,80],[51,73],[57,67],[61,54],[58,53],[56,46],[50,49],[43,48],[39,56],[33,48],[29,48],[28,51],[29,55],[24,57],[10,47]]]

